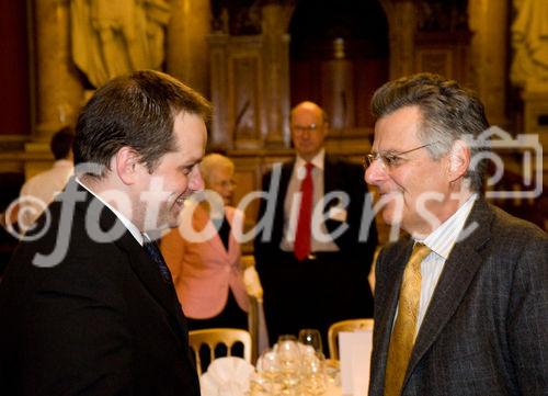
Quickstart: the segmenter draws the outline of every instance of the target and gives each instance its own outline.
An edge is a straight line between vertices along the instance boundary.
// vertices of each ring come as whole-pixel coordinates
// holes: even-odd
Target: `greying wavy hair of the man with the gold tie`
[[[432,73],[418,73],[390,81],[380,87],[372,99],[372,112],[380,118],[404,106],[418,106],[422,114],[419,138],[436,143],[427,147],[434,159],[439,159],[457,139],[465,140],[470,157],[489,150],[473,142],[489,127],[483,104],[470,90],[454,80]],[[478,157],[479,158],[479,157]],[[486,161],[469,168],[465,178],[473,191],[481,191]]]

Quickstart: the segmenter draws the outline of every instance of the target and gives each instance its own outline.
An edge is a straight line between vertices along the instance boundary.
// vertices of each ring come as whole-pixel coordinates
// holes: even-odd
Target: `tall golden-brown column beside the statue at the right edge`
[[[471,82],[486,105],[489,122],[505,128],[507,1],[468,1]]]

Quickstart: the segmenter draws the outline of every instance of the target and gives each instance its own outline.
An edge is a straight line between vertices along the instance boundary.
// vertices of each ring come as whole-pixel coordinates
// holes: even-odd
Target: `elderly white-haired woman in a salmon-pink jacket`
[[[233,162],[219,154],[202,160],[205,192],[185,203],[179,228],[161,240],[189,329],[248,328],[249,297],[240,267],[243,214],[230,206]]]

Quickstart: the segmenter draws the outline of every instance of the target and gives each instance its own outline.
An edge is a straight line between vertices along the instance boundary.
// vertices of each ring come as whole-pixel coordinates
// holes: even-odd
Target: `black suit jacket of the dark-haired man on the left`
[[[173,287],[117,217],[75,183],[61,194],[78,189],[83,199],[70,231],[60,230],[70,235],[67,254],[55,267],[32,264],[58,244],[56,201],[47,231],[16,248],[0,284],[0,394],[199,395]],[[95,220],[90,207],[101,211]],[[93,240],[90,212],[88,229],[115,226],[122,236]]]

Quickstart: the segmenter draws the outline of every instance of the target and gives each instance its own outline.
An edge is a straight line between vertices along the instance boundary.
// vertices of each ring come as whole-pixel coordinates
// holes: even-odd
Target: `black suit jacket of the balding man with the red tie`
[[[258,220],[266,220],[266,227],[259,230],[254,241],[256,270],[264,288],[264,309],[272,343],[276,342],[279,335],[295,335],[301,328],[318,328],[326,336],[329,325],[334,321],[373,315],[373,296],[367,275],[377,246],[377,230],[375,223],[370,223],[369,233],[364,228],[365,237],[359,240],[364,207],[370,214],[370,206],[364,205],[367,186],[362,166],[326,156],[324,194],[333,191],[347,194],[349,228],[334,239],[339,252],[319,253],[317,260],[298,262],[293,252],[279,248],[284,230],[284,201],[294,165],[292,161],[282,166],[274,212],[269,213],[267,202],[261,201]],[[269,191],[272,177],[272,171],[264,176],[263,191]],[[338,203],[338,200],[330,201],[324,213],[329,213],[329,208]],[[326,220],[329,233],[341,224],[333,218]]]

